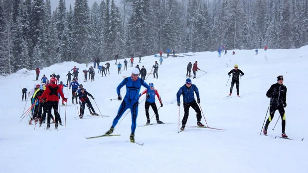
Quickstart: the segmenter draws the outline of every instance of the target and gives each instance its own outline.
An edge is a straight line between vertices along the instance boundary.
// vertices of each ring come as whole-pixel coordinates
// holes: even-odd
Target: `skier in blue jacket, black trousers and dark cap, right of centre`
[[[195,100],[194,93],[197,96],[197,102]],[[193,110],[197,113],[197,126],[204,127],[201,123],[201,111],[198,106],[200,104],[199,90],[196,85],[191,84],[190,78],[186,79],[186,84],[180,87],[178,92],[176,93],[177,106],[180,106],[180,96],[183,95],[183,106],[184,106],[184,117],[182,120],[181,131],[185,129],[185,125],[189,115],[189,108],[192,107]],[[197,104],[198,103],[198,104]]]

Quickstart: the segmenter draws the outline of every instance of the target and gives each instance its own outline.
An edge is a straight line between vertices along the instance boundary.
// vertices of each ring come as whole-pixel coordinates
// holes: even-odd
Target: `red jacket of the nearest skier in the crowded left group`
[[[62,99],[65,99],[61,88],[57,84],[51,83],[49,85],[46,85],[46,90],[44,91],[43,95],[38,98],[46,99],[46,102],[48,101],[58,102],[59,101],[58,94],[60,94]]]

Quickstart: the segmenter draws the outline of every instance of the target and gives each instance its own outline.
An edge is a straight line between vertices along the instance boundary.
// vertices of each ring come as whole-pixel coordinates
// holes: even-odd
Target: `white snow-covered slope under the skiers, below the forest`
[[[163,59],[158,69],[158,79],[153,79],[151,75],[146,80],[147,83],[154,83],[161,96],[163,107],[158,111],[160,120],[178,123],[176,92],[185,83],[187,63],[198,61],[198,67],[207,74],[198,71],[197,79],[192,82],[199,88],[207,124],[226,130],[186,128],[178,134],[178,125],[137,127],[136,142],[144,143],[144,146],[126,142],[131,133],[130,113],[115,128],[114,134],[121,136],[84,138],[102,135],[109,130],[121,103],[110,99],[117,98],[116,87],[123,80],[122,75],[131,75],[132,67],[118,75],[115,62],[110,61],[110,75],[101,77],[96,69],[95,81],[87,83],[81,82],[83,74],[80,74],[80,83],[95,97],[102,114],[110,117],[74,118],[78,113],[76,105],[71,103],[69,91],[66,129],[59,126],[58,131],[53,130],[54,124],[51,124],[52,131],[44,130],[45,124],[41,128],[36,126],[34,130],[34,125],[28,125],[27,117],[19,123],[25,104],[21,102],[19,86],[28,87],[29,91],[37,83],[33,81],[34,70],[20,70],[6,78],[2,77],[1,173],[308,173],[308,116],[305,113],[308,98],[307,49],[308,46],[293,50],[268,49],[260,50],[259,55],[255,55],[254,50],[235,50],[236,54],[232,55],[232,50],[229,50],[228,55],[222,53],[221,58],[218,58],[217,52],[197,52],[187,53],[195,56]],[[150,72],[154,61],[158,59],[154,56],[143,57],[143,63],[134,65],[145,65]],[[120,61],[123,63],[123,60]],[[136,58],[137,61],[139,58]],[[227,73],[234,64],[238,64],[245,73],[240,82],[242,98],[226,97],[230,89],[230,81],[226,86]],[[41,69],[39,78],[43,74],[49,76],[55,72],[66,83],[65,75],[74,65],[81,71],[85,68],[85,64],[64,62]],[[278,112],[269,126],[269,137],[259,136],[269,105],[266,92],[277,82],[278,75],[284,75],[284,84],[288,88],[286,133],[297,141],[274,139],[281,135],[281,120],[275,131],[271,130],[279,118]],[[64,88],[65,96],[67,92]],[[125,88],[121,94],[125,95]],[[159,105],[157,99],[156,104]],[[93,106],[99,113],[95,103]],[[26,107],[30,107],[29,102]],[[181,98],[180,121],[183,112]],[[85,115],[88,113],[86,108]],[[153,114],[150,109],[150,116]],[[64,106],[60,107],[60,115],[64,123]],[[154,119],[152,123],[155,123]],[[142,102],[137,124],[142,126],[145,123]],[[202,123],[205,124],[203,118]],[[186,126],[196,126],[196,114],[192,109]],[[300,141],[302,138],[307,140]]]

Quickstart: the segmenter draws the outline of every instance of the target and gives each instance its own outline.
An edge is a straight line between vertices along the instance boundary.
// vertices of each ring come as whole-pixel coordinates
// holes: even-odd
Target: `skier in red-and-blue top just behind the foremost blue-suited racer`
[[[159,115],[158,115],[158,110],[155,104],[155,95],[157,96],[159,103],[160,103],[160,107],[162,107],[162,103],[161,103],[161,98],[158,94],[158,91],[154,88],[154,84],[153,83],[149,83],[149,86],[151,88],[151,90],[146,89],[144,92],[142,92],[141,94],[139,94],[139,98],[147,93],[147,100],[146,100],[146,104],[145,104],[145,108],[146,108],[146,116],[147,116],[147,124],[150,124],[150,114],[149,114],[149,108],[150,106],[152,107],[154,113],[155,113],[155,117],[156,117],[156,122],[157,124],[163,124],[162,121],[159,121]]]

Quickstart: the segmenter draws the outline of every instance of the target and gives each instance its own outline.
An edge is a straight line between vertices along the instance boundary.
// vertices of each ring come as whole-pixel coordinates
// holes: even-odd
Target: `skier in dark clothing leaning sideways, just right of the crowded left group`
[[[95,113],[95,110],[88,98],[88,96],[92,97],[92,99],[94,100],[94,97],[88,93],[87,91],[85,91],[84,88],[80,88],[80,93],[78,92],[76,97],[79,97],[79,105],[80,105],[80,115],[79,118],[82,119],[83,118],[83,114],[85,112],[85,105],[88,104],[89,107],[92,109],[93,113],[90,111],[91,115],[98,115],[97,113]],[[90,110],[90,109],[89,109]]]

